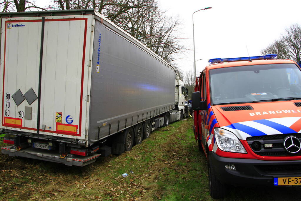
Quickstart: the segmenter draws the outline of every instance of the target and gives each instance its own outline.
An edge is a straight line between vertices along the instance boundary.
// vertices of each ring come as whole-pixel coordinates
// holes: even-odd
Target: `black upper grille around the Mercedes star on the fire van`
[[[284,149],[283,141],[287,136],[295,136],[301,141],[301,133],[293,133],[248,137],[247,142],[253,152],[259,156],[300,156],[301,150],[296,154],[291,154]],[[254,149],[253,143],[260,143],[260,148]],[[264,144],[272,144],[273,147],[265,148]]]

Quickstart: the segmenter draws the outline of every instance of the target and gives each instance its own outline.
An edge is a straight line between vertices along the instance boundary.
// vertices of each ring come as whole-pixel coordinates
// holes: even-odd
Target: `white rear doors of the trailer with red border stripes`
[[[2,128],[85,138],[91,24],[92,15],[2,18]]]

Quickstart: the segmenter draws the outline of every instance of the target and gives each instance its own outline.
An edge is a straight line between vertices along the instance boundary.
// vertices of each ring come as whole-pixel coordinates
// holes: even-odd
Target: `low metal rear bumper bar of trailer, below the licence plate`
[[[60,154],[54,151],[42,150],[37,148],[26,148],[22,150],[16,150],[14,146],[1,147],[1,153],[9,156],[20,156],[24,158],[38,159],[49,162],[62,163],[68,166],[85,166],[100,156],[100,154],[92,154],[91,156],[74,156],[68,154],[65,158],[61,158]]]

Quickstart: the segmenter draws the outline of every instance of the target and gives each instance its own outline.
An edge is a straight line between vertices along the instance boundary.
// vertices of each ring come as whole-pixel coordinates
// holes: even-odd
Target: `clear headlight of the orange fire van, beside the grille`
[[[234,133],[222,128],[214,128],[214,134],[219,149],[223,151],[247,153]]]

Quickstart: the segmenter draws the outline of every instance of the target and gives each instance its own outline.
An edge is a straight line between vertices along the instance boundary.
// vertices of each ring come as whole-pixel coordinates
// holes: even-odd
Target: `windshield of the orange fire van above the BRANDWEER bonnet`
[[[301,71],[293,63],[212,69],[209,76],[212,104],[301,97]]]

